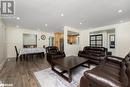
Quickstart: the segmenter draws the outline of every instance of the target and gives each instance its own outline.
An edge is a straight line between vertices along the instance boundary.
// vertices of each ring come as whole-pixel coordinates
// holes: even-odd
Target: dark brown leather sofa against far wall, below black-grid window
[[[79,51],[78,56],[85,57],[95,64],[104,61],[107,55],[107,48],[104,47],[84,47],[83,51]]]

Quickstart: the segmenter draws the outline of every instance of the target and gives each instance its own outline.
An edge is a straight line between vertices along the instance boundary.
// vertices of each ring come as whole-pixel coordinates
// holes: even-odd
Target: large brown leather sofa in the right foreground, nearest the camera
[[[104,64],[84,72],[80,87],[130,87],[130,53],[124,59],[109,56]]]

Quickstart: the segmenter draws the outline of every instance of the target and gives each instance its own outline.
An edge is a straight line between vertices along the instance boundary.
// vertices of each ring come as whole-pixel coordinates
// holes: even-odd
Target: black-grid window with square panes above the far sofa
[[[90,46],[92,46],[92,47],[102,47],[103,46],[102,34],[90,35]]]

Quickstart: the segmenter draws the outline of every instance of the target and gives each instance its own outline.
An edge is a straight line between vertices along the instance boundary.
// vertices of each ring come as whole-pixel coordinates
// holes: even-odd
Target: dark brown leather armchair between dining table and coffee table
[[[48,46],[46,47],[46,54],[47,54],[47,61],[50,64],[52,63],[52,60],[55,58],[63,58],[65,57],[65,52],[59,51],[59,49],[56,46]]]

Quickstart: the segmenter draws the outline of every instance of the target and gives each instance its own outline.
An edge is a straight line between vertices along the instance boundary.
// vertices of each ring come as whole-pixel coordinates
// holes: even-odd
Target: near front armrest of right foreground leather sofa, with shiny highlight
[[[80,79],[80,87],[122,87],[115,79],[102,75],[97,71],[87,71]],[[106,74],[107,75],[107,74]],[[123,86],[124,87],[124,86]]]

